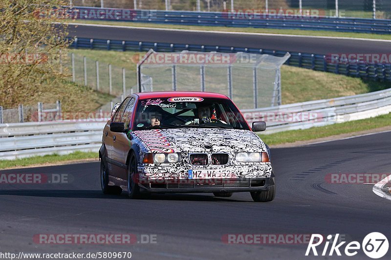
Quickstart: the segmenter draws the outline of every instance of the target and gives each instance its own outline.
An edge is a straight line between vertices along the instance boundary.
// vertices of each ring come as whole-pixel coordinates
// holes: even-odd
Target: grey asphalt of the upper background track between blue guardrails
[[[98,27],[92,25],[70,25],[69,36],[91,39],[220,45],[315,54],[388,54],[391,50],[390,41],[224,34],[218,32],[187,32],[185,30]]]

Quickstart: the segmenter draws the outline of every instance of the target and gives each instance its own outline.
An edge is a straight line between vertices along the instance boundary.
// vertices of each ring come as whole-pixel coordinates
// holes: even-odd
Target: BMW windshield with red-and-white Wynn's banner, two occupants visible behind
[[[174,97],[139,100],[134,130],[152,128],[226,128],[250,130],[231,100]]]

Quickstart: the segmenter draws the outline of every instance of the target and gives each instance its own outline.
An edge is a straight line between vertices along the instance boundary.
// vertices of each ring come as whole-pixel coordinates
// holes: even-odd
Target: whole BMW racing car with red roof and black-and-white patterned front
[[[276,195],[270,149],[227,96],[208,92],[144,92],[117,103],[99,150],[104,194],[250,192]]]

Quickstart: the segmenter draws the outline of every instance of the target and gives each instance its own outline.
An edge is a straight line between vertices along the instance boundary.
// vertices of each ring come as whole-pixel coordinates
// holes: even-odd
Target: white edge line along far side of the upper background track
[[[123,25],[106,25],[92,23],[76,23],[69,22],[70,25],[91,26],[91,27],[109,27],[123,29],[141,29],[141,30],[159,30],[159,31],[177,31],[177,32],[194,32],[194,33],[213,33],[213,34],[237,34],[237,35],[258,35],[258,36],[277,36],[277,37],[295,37],[295,38],[318,38],[318,39],[335,39],[335,40],[365,40],[365,41],[383,41],[391,42],[391,40],[381,39],[365,39],[351,37],[334,37],[334,36],[310,36],[310,35],[293,35],[293,34],[269,34],[269,33],[245,33],[245,32],[226,32],[226,31],[205,31],[205,30],[187,30],[187,29],[169,29],[169,28],[153,28],[153,27],[136,27]]]

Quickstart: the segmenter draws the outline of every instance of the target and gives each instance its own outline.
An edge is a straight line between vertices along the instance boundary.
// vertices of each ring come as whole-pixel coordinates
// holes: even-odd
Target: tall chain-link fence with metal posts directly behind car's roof
[[[240,109],[281,104],[282,64],[290,57],[249,53],[158,53],[138,64],[140,89],[208,91],[234,100]]]

